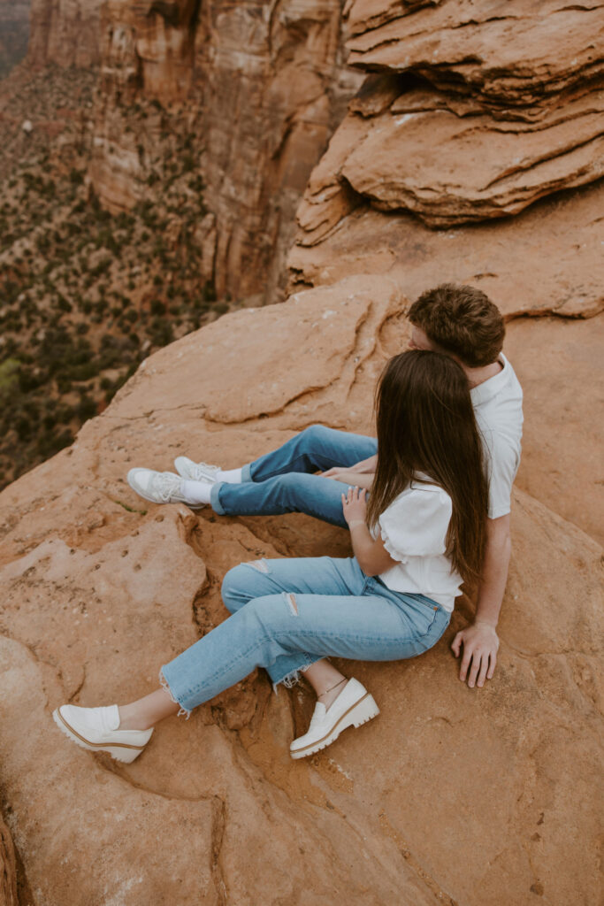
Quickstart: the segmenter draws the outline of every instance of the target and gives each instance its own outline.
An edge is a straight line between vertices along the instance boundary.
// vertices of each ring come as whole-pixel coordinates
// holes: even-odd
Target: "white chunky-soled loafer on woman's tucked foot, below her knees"
[[[321,748],[330,746],[343,729],[360,727],[378,715],[379,708],[373,696],[358,679],[349,679],[330,708],[326,710],[321,701],[317,702],[308,732],[293,740],[290,755],[292,758],[314,755]]]

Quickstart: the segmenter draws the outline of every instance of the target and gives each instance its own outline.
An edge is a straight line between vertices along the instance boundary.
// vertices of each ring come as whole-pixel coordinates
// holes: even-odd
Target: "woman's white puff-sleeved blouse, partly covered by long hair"
[[[394,592],[425,594],[449,612],[463,581],[445,556],[452,511],[442,487],[414,480],[379,516],[384,547],[398,561],[381,581]]]

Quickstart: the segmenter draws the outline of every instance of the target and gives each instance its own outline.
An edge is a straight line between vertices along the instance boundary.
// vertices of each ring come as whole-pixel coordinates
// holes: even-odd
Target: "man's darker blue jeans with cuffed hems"
[[[212,508],[220,516],[307,513],[346,527],[341,505],[345,486],[312,472],[354,466],[377,450],[375,438],[313,425],[283,447],[244,466],[242,484],[217,482],[211,491]]]

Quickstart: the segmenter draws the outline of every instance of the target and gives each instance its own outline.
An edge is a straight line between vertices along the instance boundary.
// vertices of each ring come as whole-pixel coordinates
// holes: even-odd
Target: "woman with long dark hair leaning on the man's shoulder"
[[[162,667],[160,688],[145,698],[57,708],[53,718],[66,736],[133,761],[159,720],[188,717],[257,666],[275,687],[303,672],[317,694],[293,758],[379,713],[360,682],[323,659],[398,660],[438,641],[461,583],[478,577],[487,486],[468,382],[455,361],[426,351],[395,356],[376,401],[379,456],[369,502],[365,488],[342,494],[354,557],[236,566],[222,589],[232,616]]]

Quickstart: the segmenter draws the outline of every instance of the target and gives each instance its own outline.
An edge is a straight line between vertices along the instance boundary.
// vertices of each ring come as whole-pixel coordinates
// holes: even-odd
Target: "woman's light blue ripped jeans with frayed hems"
[[[264,667],[291,685],[325,656],[401,660],[431,648],[450,614],[423,594],[392,592],[353,557],[260,560],[225,575],[225,622],[162,668],[189,712]]]

